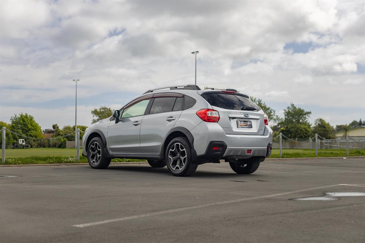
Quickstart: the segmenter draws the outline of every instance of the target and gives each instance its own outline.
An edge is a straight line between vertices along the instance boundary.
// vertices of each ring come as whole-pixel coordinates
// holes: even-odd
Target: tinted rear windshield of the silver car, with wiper
[[[250,99],[240,95],[230,95],[224,93],[205,93],[201,95],[209,104],[223,109],[228,110],[239,110],[239,111],[259,111],[255,103]],[[253,107],[254,109],[252,109]]]

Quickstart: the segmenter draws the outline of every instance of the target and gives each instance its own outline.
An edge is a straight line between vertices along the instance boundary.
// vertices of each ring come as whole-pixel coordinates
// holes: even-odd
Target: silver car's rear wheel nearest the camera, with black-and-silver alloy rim
[[[177,137],[170,141],[165,151],[167,169],[175,176],[189,176],[198,167],[193,163],[189,141],[184,137]]]

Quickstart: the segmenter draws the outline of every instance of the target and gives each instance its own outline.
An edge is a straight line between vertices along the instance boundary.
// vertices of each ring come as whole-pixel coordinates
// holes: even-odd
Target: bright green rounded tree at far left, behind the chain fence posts
[[[27,113],[20,113],[19,116],[14,114],[10,117],[10,122],[10,130],[13,132],[32,138],[43,138],[41,126]],[[17,136],[13,137],[18,139]]]

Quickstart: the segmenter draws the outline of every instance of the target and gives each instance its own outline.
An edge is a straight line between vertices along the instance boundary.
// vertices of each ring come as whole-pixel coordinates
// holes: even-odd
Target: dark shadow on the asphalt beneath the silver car
[[[152,168],[149,166],[140,166],[140,165],[113,165],[109,166],[107,170],[120,170],[120,171],[135,171],[135,172],[141,172],[141,173],[150,173],[150,174],[164,174],[164,175],[170,175],[169,170],[166,167],[163,168]],[[217,171],[217,172],[211,172],[211,171],[204,171],[203,169],[198,169],[189,177],[207,177],[207,178],[223,178],[223,177],[231,177],[234,179],[238,178],[254,178],[254,177],[260,177],[260,174],[243,174],[239,175],[232,172],[224,172],[224,171]]]

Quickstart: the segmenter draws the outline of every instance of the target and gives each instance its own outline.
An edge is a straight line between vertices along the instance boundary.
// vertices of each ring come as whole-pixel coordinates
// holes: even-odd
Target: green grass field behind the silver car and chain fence
[[[1,151],[1,149],[0,149]],[[76,149],[74,148],[28,148],[6,149],[6,165],[28,164],[57,164],[57,163],[87,163],[87,158],[81,156],[76,161]],[[365,150],[350,149],[349,156],[365,156]],[[283,156],[279,156],[279,150],[273,149],[270,158],[308,158],[316,157],[314,149],[283,149]],[[320,149],[318,157],[346,157],[346,149]],[[145,161],[139,159],[113,159],[112,162]]]

